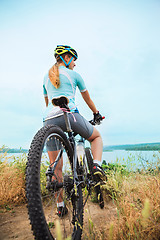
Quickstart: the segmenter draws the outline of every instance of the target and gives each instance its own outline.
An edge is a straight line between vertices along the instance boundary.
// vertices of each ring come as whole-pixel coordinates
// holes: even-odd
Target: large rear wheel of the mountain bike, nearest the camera
[[[45,149],[48,142],[54,146],[54,151],[50,151],[55,158],[54,164]],[[26,167],[27,207],[35,239],[54,239],[57,220],[63,238],[81,239],[83,197],[81,186],[77,189],[78,197],[74,192],[72,161],[73,150],[61,128],[47,125],[37,132]],[[57,203],[65,205],[67,210],[57,212]],[[67,214],[63,216],[64,213]]]

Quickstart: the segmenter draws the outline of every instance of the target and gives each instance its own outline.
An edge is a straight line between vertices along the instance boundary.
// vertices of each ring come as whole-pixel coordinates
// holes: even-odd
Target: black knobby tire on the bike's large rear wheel
[[[55,239],[55,236],[51,234],[44,214],[40,182],[43,148],[50,135],[55,135],[56,138],[60,140],[67,153],[70,165],[72,165],[73,161],[71,144],[68,141],[66,134],[58,126],[44,126],[34,136],[29,149],[26,167],[26,198],[30,224],[32,226],[33,235],[37,240]],[[74,201],[72,200],[71,204],[72,211],[73,205],[76,206],[78,216],[78,224],[72,225],[72,239],[76,240],[81,239],[83,227],[83,211],[81,211],[83,208],[83,196],[81,186],[78,187],[78,194],[79,198]]]

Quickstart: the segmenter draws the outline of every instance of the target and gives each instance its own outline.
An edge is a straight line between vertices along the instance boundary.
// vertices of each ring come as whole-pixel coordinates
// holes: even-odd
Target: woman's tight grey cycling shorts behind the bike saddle
[[[92,124],[90,124],[79,113],[72,113],[72,114],[69,113],[68,116],[70,119],[71,128],[74,131],[74,133],[79,134],[85,139],[88,139],[89,137],[91,137],[93,133]],[[64,132],[66,132],[66,125],[65,125],[65,120],[63,115],[48,119],[44,122],[44,126],[50,125],[50,124],[57,125]],[[47,151],[56,151],[58,149],[61,149],[61,145],[58,143],[58,148],[57,148],[57,143],[53,141],[53,139],[49,139],[49,141],[47,141],[46,143],[46,149]]]

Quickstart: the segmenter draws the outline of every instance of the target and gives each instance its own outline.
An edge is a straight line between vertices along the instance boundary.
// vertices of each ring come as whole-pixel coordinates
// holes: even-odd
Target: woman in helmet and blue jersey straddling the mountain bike
[[[44,78],[43,90],[46,103],[46,114],[44,117],[44,125],[54,124],[66,131],[65,122],[62,110],[59,107],[52,105],[52,99],[58,96],[66,96],[69,99],[69,108],[72,114],[69,114],[71,127],[75,133],[80,134],[91,143],[91,151],[94,159],[94,171],[102,175],[102,169],[99,166],[102,158],[103,143],[100,133],[93,125],[91,125],[85,118],[83,118],[75,105],[75,92],[76,87],[79,88],[81,95],[91,109],[94,115],[95,121],[102,120],[102,116],[99,114],[94,102],[91,100],[88,90],[82,77],[75,71],[73,71],[75,61],[78,58],[77,52],[65,45],[58,45],[55,49],[56,63],[51,67],[49,72]],[[54,145],[49,141],[47,143],[47,151],[50,158],[50,162],[55,160]],[[62,163],[59,166],[59,174],[62,175]],[[104,173],[103,173],[104,174]],[[58,207],[64,207],[64,203],[60,202],[59,198]]]

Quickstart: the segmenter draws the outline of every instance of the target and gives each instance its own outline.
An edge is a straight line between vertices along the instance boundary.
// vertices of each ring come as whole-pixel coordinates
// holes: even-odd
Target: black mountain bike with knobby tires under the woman
[[[32,140],[26,167],[28,214],[35,239],[55,239],[55,223],[58,219],[63,239],[71,236],[79,240],[88,196],[94,189],[101,208],[104,207],[104,200],[100,182],[93,174],[91,150],[85,148],[85,139],[82,137],[78,142],[75,140],[66,98],[54,99],[54,105],[63,110],[67,134],[56,125],[47,125]],[[92,124],[95,123],[92,121]],[[45,149],[47,141],[52,141],[56,147],[53,163],[49,162]],[[57,201],[62,200],[67,214],[59,217]]]

